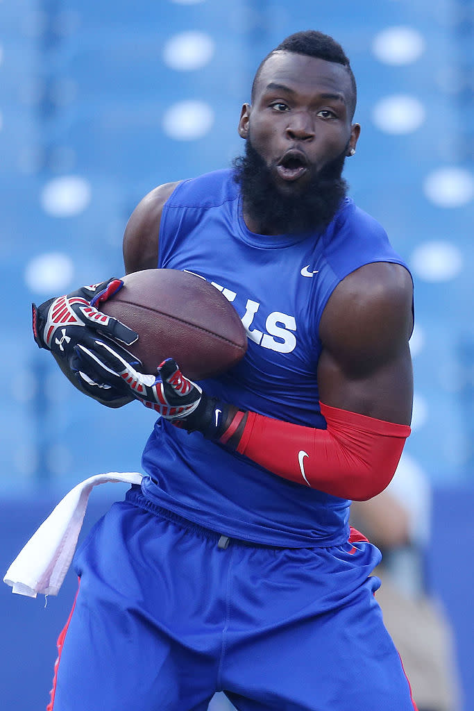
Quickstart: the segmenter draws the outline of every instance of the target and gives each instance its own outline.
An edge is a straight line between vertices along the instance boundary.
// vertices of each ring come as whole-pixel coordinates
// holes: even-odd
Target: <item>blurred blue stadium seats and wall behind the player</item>
[[[471,711],[473,0],[0,0],[0,561],[6,570],[81,479],[139,469],[152,424],[138,404],[109,411],[75,392],[33,343],[30,302],[121,275],[136,203],[239,154],[259,60],[307,28],[351,59],[362,124],[351,194],[414,273],[414,433],[401,466],[431,485],[426,580],[453,625]],[[85,528],[121,498],[112,489],[93,494]],[[1,589],[5,707],[45,707],[74,587],[69,574],[46,609]]]

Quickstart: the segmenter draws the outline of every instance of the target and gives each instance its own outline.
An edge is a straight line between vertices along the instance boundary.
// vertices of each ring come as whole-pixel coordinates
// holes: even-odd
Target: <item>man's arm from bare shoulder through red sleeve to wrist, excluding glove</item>
[[[411,278],[404,267],[367,264],[330,297],[318,368],[327,429],[238,413],[220,441],[269,471],[364,501],[386,488],[410,429]]]

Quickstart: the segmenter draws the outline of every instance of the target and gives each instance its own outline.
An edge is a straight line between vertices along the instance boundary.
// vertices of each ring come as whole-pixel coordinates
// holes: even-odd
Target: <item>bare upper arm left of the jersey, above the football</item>
[[[178,183],[158,186],[136,206],[126,224],[123,242],[126,274],[158,266],[158,236],[163,205]]]

